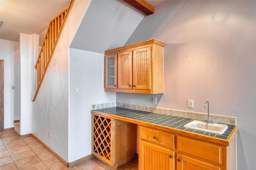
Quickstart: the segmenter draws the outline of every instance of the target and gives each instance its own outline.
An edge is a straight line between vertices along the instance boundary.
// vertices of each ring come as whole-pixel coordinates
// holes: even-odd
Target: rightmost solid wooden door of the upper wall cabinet
[[[151,47],[133,50],[133,89],[151,90]]]

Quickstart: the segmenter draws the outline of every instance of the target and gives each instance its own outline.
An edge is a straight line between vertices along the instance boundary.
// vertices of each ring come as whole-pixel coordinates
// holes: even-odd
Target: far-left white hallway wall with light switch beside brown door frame
[[[4,60],[4,129],[7,129],[20,119],[20,43],[0,39],[0,59]]]

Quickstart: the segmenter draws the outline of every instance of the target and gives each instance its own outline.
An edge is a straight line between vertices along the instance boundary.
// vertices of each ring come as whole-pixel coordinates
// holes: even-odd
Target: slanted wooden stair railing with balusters
[[[70,1],[69,6],[63,10],[56,18],[50,21],[49,27],[47,29],[42,48],[40,50],[38,59],[34,68],[37,70],[37,90],[34,96],[33,102],[36,100],[36,96],[41,87],[42,81],[46,74],[46,70],[52,59],[54,50],[60,39],[60,35],[68,18],[68,14],[74,4],[74,0]]]

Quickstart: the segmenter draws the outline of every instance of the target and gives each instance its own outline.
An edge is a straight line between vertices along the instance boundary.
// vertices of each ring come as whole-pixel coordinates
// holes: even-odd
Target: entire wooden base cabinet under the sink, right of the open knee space
[[[140,125],[139,169],[233,170],[235,141],[226,147]]]

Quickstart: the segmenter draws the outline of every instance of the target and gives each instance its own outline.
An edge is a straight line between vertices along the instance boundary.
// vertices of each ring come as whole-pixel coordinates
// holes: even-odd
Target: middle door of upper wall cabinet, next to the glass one
[[[118,89],[132,89],[132,51],[118,53]]]

